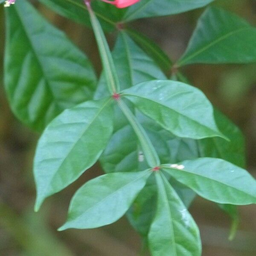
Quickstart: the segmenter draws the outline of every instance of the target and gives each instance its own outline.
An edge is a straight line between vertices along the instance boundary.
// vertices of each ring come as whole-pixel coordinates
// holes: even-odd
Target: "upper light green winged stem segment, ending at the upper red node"
[[[110,49],[108,47],[107,40],[102,31],[99,20],[97,19],[96,15],[94,14],[90,6],[90,0],[84,0],[84,3],[86,4],[89,15],[90,15],[90,21],[92,23],[93,31],[98,44],[99,53],[100,53],[100,57],[103,65],[103,70],[104,70],[106,81],[108,84],[108,89],[111,94],[118,93],[120,90],[119,79],[116,74],[116,68],[113,62]]]

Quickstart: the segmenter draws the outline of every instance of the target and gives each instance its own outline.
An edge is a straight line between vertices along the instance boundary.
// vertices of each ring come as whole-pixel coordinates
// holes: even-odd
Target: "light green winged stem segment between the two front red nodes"
[[[125,102],[123,102],[121,99],[117,101],[122,113],[126,116],[128,121],[130,122],[132,128],[134,129],[134,132],[136,133],[140,145],[142,147],[143,153],[145,155],[145,159],[148,163],[148,165],[151,168],[154,168],[156,166],[160,165],[160,160],[157,155],[157,152],[154,149],[154,146],[152,145],[151,141],[148,138],[148,135],[146,134],[143,127],[140,125],[134,114],[131,112],[131,110],[127,107]]]

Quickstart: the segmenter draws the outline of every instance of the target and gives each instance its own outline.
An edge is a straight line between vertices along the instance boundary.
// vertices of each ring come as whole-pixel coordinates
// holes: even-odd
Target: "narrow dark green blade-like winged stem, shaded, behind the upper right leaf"
[[[165,52],[145,35],[134,29],[125,29],[125,32],[150,56],[167,74],[171,72],[172,61]],[[138,84],[138,83],[136,83]]]

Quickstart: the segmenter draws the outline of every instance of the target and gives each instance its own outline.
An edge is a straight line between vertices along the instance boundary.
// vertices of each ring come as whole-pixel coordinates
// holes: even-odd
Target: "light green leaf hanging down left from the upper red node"
[[[57,116],[35,153],[35,210],[98,160],[113,131],[111,99],[88,101]]]

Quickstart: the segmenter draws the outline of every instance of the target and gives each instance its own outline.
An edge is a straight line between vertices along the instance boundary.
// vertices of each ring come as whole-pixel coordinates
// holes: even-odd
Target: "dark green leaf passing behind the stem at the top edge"
[[[86,26],[91,26],[90,17],[83,0],[39,0],[47,7],[68,19],[74,20]],[[101,1],[92,1],[93,10],[99,18],[102,27],[110,32],[116,27],[116,23],[122,19],[125,10],[117,9],[111,4]]]

